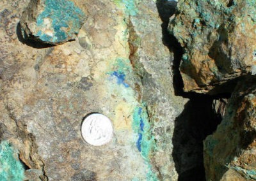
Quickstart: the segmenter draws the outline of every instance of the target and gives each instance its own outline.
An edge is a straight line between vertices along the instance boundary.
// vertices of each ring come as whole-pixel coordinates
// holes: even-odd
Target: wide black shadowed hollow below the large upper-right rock
[[[222,115],[214,110],[214,99],[218,98],[205,95],[190,98],[175,119],[172,156],[178,180],[205,180],[203,141],[222,120]],[[222,104],[225,106],[225,101]]]

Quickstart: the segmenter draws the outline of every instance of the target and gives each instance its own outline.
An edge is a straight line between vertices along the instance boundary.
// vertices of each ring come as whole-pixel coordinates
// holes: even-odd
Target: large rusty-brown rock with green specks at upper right
[[[180,0],[169,31],[184,49],[184,91],[228,92],[221,84],[255,74],[256,1]]]

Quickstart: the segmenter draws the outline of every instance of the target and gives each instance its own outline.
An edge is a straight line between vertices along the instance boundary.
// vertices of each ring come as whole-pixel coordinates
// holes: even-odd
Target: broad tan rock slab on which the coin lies
[[[26,178],[177,180],[174,120],[188,99],[174,95],[156,2],[74,1],[88,19],[56,47],[19,41],[22,11],[50,1],[31,2],[0,2],[0,138],[19,150]],[[91,112],[113,121],[102,147],[81,137]]]

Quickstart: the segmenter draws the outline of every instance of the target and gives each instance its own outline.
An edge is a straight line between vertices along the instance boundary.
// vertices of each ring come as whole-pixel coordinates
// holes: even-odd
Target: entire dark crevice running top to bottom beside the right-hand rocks
[[[205,180],[203,141],[220,124],[230,93],[210,96],[195,92],[184,92],[179,65],[184,51],[179,42],[168,32],[169,18],[175,13],[175,1],[158,0],[157,10],[163,22],[163,43],[174,54],[172,63],[173,87],[175,96],[189,98],[184,110],[175,119],[173,133],[173,161],[179,174],[178,180]],[[223,99],[224,98],[224,99]],[[214,108],[214,101],[219,101],[219,108]]]

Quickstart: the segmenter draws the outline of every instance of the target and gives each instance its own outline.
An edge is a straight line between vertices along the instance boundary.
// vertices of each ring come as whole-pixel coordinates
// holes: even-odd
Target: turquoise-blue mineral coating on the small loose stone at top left
[[[72,1],[67,0],[45,0],[44,11],[36,18],[38,27],[45,27],[44,19],[51,21],[50,30],[53,36],[38,31],[36,36],[48,43],[61,43],[79,32],[85,15]]]

